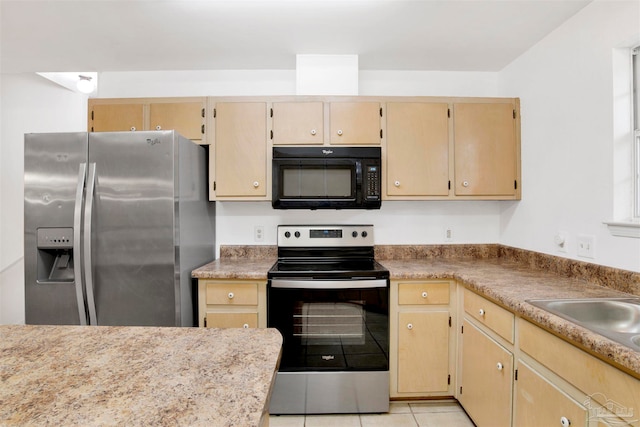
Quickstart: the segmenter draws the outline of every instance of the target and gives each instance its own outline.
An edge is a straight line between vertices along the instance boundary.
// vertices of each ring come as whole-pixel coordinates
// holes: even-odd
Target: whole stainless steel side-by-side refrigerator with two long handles
[[[214,258],[205,148],[174,131],[25,135],[28,324],[193,326]]]

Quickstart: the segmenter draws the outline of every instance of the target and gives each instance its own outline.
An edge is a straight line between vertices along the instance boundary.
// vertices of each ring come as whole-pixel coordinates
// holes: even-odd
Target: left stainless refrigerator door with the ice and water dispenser
[[[85,308],[76,294],[74,210],[87,133],[26,134],[24,144],[25,320],[76,325]]]

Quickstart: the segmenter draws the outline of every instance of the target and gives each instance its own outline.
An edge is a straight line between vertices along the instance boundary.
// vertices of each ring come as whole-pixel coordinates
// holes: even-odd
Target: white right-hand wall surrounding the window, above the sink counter
[[[640,271],[640,239],[612,236],[615,48],[640,43],[640,2],[595,1],[500,73],[521,98],[523,198],[505,203],[500,242]],[[569,235],[558,252],[554,235]],[[576,237],[595,237],[595,259]]]

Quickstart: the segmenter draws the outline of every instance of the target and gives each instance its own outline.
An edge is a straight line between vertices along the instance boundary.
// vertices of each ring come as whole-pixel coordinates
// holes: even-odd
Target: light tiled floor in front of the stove
[[[474,427],[455,400],[391,402],[387,414],[271,415],[269,427]]]

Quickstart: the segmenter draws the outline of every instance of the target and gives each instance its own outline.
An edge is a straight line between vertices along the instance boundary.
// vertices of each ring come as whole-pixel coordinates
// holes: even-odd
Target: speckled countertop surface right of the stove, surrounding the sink
[[[539,309],[537,298],[619,298],[625,292],[532,269],[503,259],[381,260],[391,279],[455,279],[570,342],[640,378],[640,352]]]

